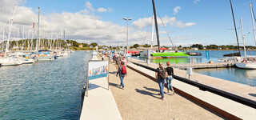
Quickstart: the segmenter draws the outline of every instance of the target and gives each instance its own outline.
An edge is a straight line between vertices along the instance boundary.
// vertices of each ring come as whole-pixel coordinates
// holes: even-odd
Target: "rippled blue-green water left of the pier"
[[[87,52],[26,66],[0,67],[0,119],[80,117]]]

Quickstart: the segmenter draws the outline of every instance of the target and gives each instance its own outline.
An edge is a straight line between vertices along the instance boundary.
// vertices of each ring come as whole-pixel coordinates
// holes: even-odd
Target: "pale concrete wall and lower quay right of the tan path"
[[[147,64],[146,62],[129,59],[130,62],[137,62],[145,66],[150,66],[152,68],[157,68],[158,65],[154,63]],[[140,74],[147,76],[148,78],[154,79],[154,71],[136,66],[134,64],[129,64],[131,68],[137,70]],[[186,78],[186,70],[174,69],[174,74],[180,77]],[[256,89],[252,86],[246,86],[236,82],[229,82],[223,79],[214,78],[206,76],[203,74],[193,73],[191,81],[204,84],[206,86],[211,86],[218,90],[223,90],[229,92],[230,94],[236,94],[243,98],[248,98],[251,101],[256,102]],[[214,110],[218,114],[222,114],[224,118],[228,119],[252,119],[256,117],[256,109],[250,106],[243,105],[239,102],[234,102],[229,98],[224,98],[218,94],[213,94],[209,91],[200,90],[198,87],[190,86],[184,82],[178,80],[173,81],[174,88],[180,91],[181,94],[193,99],[202,106],[207,106],[207,108]]]

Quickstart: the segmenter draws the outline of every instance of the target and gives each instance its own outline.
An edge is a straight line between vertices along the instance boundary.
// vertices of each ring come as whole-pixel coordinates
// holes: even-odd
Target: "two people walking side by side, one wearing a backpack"
[[[166,62],[166,65],[167,67],[164,68],[162,66],[162,63],[159,63],[159,67],[155,72],[155,77],[158,79],[158,85],[160,87],[160,94],[162,96],[161,98],[162,100],[164,99],[163,88],[164,88],[165,82],[167,83],[168,93],[169,93],[169,90],[172,90],[174,94],[174,88],[171,85],[171,80],[174,75],[174,69],[170,66],[170,62]]]

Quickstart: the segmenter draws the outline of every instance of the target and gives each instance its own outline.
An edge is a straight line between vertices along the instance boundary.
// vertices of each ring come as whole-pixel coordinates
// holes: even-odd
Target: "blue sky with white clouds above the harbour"
[[[66,38],[100,45],[126,45],[126,21],[129,22],[129,45],[151,43],[153,7],[151,0],[0,0],[0,31],[7,31],[7,21],[14,11],[13,38],[32,38],[33,22],[41,10],[40,33],[43,38]],[[250,18],[250,2],[232,0],[242,45],[242,18],[246,46],[256,46]],[[229,0],[155,0],[160,44],[236,45]],[[16,7],[14,7],[16,6]],[[256,10],[254,6],[254,10]],[[15,8],[15,9],[14,9]],[[19,31],[19,33],[18,33]],[[154,30],[155,31],[155,30]],[[7,32],[6,32],[7,33]],[[37,35],[34,32],[34,38]],[[2,36],[2,35],[1,35]],[[5,35],[7,37],[7,34]],[[2,39],[2,37],[0,37]],[[153,44],[157,44],[154,33]]]

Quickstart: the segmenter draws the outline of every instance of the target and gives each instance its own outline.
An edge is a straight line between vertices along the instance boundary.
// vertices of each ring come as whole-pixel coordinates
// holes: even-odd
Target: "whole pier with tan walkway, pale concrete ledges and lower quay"
[[[158,65],[147,64],[130,58],[127,63],[125,88],[118,85],[117,66],[110,63],[109,85],[106,78],[90,81],[89,97],[84,98],[80,120],[84,119],[254,119],[256,109],[236,102],[230,98],[198,89],[177,79],[172,81],[176,94],[165,91],[165,100],[159,94],[159,86],[154,70],[146,69],[134,63],[152,69]],[[186,78],[186,70],[174,68],[174,74]],[[225,90],[256,102],[256,89],[251,86],[223,79],[193,73],[189,81]],[[255,94],[252,95],[252,94]]]

